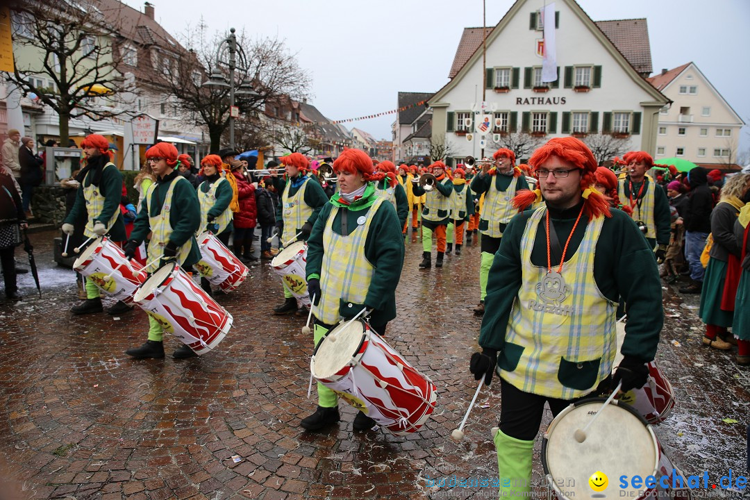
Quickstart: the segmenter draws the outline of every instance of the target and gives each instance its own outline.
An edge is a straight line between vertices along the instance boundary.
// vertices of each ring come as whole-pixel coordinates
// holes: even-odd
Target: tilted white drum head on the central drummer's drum
[[[365,339],[365,323],[361,321],[339,323],[333,328],[315,349],[314,373],[318,379],[329,379],[347,366],[352,357],[359,351]],[[331,342],[331,336],[336,341]]]

